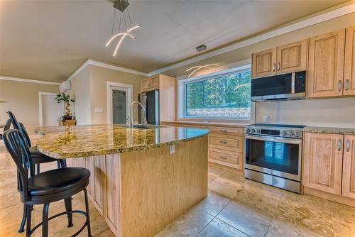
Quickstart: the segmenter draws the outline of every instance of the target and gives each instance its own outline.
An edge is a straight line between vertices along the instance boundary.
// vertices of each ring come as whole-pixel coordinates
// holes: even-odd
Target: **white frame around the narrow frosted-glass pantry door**
[[[126,95],[126,115],[129,115],[129,106],[133,101],[133,85],[132,84],[124,84],[119,82],[107,82],[107,123],[113,124],[112,118],[112,91],[114,88],[121,87],[124,88],[127,92]]]

